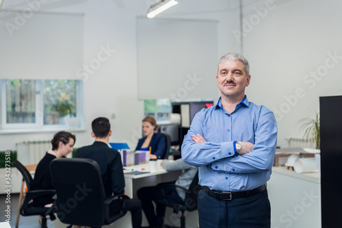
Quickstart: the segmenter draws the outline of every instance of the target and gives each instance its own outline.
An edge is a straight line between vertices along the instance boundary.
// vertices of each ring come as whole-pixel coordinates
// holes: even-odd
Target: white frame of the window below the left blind
[[[44,79],[32,79],[35,81],[36,87],[36,123],[7,123],[6,114],[6,80],[0,79],[1,99],[0,99],[0,133],[6,131],[61,131],[68,130],[68,125],[44,125],[44,98],[42,92],[42,82]],[[11,79],[10,79],[11,80]],[[49,79],[51,80],[51,79]],[[74,80],[74,79],[71,79]],[[83,130],[84,114],[83,114],[83,80],[76,81],[76,110],[77,118],[79,118],[79,126],[73,130]]]

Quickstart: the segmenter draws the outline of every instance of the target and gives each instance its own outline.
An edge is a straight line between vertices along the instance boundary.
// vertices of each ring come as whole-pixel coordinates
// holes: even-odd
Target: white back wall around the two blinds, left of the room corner
[[[84,14],[84,64],[89,64],[92,59],[97,58],[101,47],[115,49],[109,60],[84,79],[86,131],[75,132],[75,147],[93,142],[90,123],[98,116],[105,116],[111,121],[111,142],[128,142],[129,146],[135,147],[137,139],[141,137],[141,120],[144,117],[144,103],[137,100],[136,17],[144,16],[148,5],[153,1],[55,0],[38,3],[39,10],[43,12]],[[26,1],[21,4],[18,1],[3,3],[3,10],[22,10],[27,7]],[[236,45],[227,27],[232,21],[239,23],[236,8],[235,3],[229,1],[215,0],[208,3],[205,0],[189,0],[179,3],[162,16],[220,21],[218,54],[223,55],[231,49],[239,51],[239,45]],[[219,97],[219,93],[217,94]],[[218,97],[213,99],[217,100]],[[115,114],[115,118],[111,118],[112,114]],[[15,143],[24,140],[51,139],[53,133],[1,134],[0,150],[15,149]]]

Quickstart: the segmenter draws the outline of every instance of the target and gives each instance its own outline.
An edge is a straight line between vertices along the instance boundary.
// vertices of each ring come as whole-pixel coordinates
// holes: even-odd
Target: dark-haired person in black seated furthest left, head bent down
[[[57,157],[66,157],[75,144],[76,137],[66,131],[60,131],[51,140],[52,149],[49,149],[38,163],[34,174],[33,190],[54,189],[50,174],[50,163]],[[53,196],[42,196],[34,200],[35,205],[49,205],[53,203]]]

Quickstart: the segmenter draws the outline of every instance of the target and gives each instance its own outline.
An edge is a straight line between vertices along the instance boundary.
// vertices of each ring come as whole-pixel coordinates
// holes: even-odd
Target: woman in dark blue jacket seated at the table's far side
[[[140,138],[137,142],[135,151],[150,150],[150,159],[162,158],[166,148],[166,140],[162,134],[155,133],[157,130],[157,122],[152,116],[146,116],[142,120],[142,131],[144,138]]]

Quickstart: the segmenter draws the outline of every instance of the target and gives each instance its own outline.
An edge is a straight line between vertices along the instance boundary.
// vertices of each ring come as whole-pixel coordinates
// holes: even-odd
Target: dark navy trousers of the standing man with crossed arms
[[[269,228],[271,206],[267,189],[252,197],[224,201],[200,190],[198,194],[198,220],[205,228]]]

